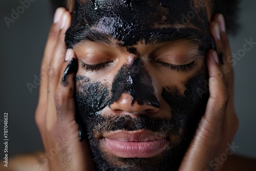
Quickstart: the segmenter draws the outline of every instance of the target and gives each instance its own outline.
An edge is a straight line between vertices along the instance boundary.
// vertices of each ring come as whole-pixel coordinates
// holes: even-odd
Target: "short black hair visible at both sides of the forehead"
[[[50,0],[52,9],[55,11],[58,7],[67,7],[68,0]],[[223,14],[226,21],[226,29],[230,34],[236,34],[239,29],[238,12],[240,0],[214,0],[214,13]]]

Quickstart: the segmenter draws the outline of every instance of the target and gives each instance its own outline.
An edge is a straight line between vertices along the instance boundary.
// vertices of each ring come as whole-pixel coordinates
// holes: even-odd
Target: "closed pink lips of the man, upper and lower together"
[[[101,145],[106,152],[121,158],[150,158],[168,146],[166,136],[151,131],[115,131],[103,134]]]

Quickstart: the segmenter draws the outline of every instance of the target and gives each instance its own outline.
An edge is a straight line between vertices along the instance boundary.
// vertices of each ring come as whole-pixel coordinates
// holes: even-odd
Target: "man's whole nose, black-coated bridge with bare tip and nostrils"
[[[155,113],[160,108],[152,78],[139,58],[131,65],[121,67],[114,78],[111,93],[110,108],[115,112]]]

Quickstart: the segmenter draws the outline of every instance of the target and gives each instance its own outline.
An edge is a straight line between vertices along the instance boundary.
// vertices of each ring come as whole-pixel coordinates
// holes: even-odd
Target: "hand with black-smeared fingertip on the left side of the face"
[[[77,70],[73,50],[66,49],[65,33],[71,15],[58,8],[41,65],[41,83],[35,120],[44,143],[50,170],[93,170],[86,141],[79,141],[75,121],[74,77]],[[63,73],[66,74],[63,74]],[[46,74],[47,73],[47,74]]]

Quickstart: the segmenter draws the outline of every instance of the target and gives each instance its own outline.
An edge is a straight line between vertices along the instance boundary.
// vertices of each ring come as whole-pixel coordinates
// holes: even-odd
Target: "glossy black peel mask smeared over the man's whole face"
[[[177,32],[176,26],[179,24],[185,28],[180,29],[180,37],[173,39],[186,39],[187,37],[182,37],[182,33],[190,31],[187,27],[195,26],[197,35],[205,36],[198,38],[196,35],[193,38],[197,39],[199,50],[205,52],[210,45],[205,9],[202,8],[198,14],[195,13],[186,25],[182,21],[184,14],[193,11],[191,6],[194,6],[194,3],[185,0],[76,1],[72,26],[66,34],[67,47],[73,48],[84,39],[95,41],[93,36],[98,33],[102,39],[112,37],[118,40],[118,46],[128,49],[142,40],[145,44],[156,37],[160,42],[165,41],[166,37],[159,36],[159,33],[170,30]],[[184,92],[180,92],[170,82],[169,86],[162,88],[161,95],[156,95],[152,77],[144,65],[140,65],[140,71],[135,72],[134,67],[138,66],[139,61],[140,55],[137,54],[132,63],[123,65],[114,79],[109,80],[111,84],[91,81],[82,75],[76,77],[78,118],[88,133],[86,138],[98,170],[178,170],[198,122],[204,114],[208,94],[202,96],[198,90],[204,89],[204,80],[208,79],[205,68],[182,83]],[[169,118],[146,114],[137,118],[121,114],[102,116],[102,110],[117,102],[122,93],[131,95],[131,105],[136,101],[140,105],[152,105],[155,108],[161,108],[157,98],[161,96],[169,104],[172,113]],[[176,142],[162,154],[152,158],[119,158],[102,151],[100,140],[95,137],[96,133],[140,129],[173,135]]]

